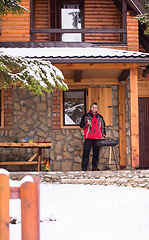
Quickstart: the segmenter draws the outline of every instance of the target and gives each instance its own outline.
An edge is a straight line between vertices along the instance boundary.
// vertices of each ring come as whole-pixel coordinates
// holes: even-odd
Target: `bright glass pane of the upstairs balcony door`
[[[81,29],[80,5],[64,4],[61,8],[62,29]],[[81,33],[62,34],[63,42],[81,42]]]

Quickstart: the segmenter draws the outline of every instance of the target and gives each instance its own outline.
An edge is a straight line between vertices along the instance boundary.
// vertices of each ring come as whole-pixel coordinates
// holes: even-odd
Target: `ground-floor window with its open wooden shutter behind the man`
[[[98,112],[106,126],[112,126],[112,88],[92,87],[61,91],[61,128],[79,128],[82,116],[90,110],[92,102],[99,105]]]

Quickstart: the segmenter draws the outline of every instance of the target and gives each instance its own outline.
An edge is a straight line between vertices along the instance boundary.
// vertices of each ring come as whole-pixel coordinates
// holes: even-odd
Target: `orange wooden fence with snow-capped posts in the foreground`
[[[21,199],[21,239],[39,240],[40,179],[32,178],[31,181],[24,177],[20,187],[10,187],[7,173],[0,171],[0,240],[9,240],[9,199]]]

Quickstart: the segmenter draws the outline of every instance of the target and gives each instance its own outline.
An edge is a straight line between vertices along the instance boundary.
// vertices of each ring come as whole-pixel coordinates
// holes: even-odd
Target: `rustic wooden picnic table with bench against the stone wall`
[[[49,142],[39,142],[39,143],[0,143],[0,148],[37,148],[38,151],[35,153],[28,161],[5,161],[0,162],[1,165],[38,165],[38,171],[41,170],[41,153],[43,148],[51,148],[51,143]],[[38,161],[33,161],[38,156]]]

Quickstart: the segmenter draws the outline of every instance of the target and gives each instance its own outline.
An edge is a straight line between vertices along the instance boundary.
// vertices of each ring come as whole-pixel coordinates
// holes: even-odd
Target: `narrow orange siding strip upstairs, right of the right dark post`
[[[139,51],[138,20],[127,13],[127,50]]]

